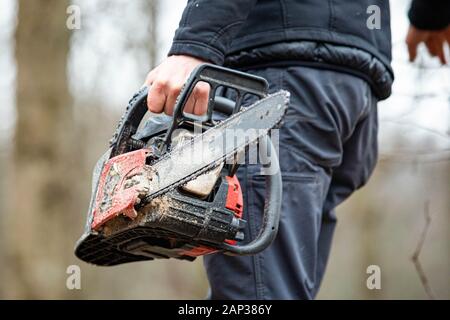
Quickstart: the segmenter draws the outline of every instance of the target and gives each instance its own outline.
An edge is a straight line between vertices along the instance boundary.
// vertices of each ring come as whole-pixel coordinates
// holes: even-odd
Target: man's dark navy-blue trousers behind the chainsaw
[[[335,207],[363,186],[377,159],[377,100],[353,75],[307,67],[249,71],[291,93],[280,129],[283,205],[273,244],[254,256],[204,257],[212,299],[313,299],[327,264]],[[259,230],[264,176],[242,166],[245,237]]]

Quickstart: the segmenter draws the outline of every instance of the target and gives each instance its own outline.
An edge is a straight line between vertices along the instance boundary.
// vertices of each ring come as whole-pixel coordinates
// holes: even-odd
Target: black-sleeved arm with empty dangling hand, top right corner
[[[406,44],[410,61],[415,60],[417,46],[423,42],[432,56],[447,63],[444,46],[450,43],[450,1],[413,0],[408,17],[411,26]]]

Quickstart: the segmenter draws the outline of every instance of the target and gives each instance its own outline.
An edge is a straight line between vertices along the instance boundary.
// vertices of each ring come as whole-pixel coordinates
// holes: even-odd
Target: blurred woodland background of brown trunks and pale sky
[[[94,163],[184,3],[0,0],[0,298],[205,297],[200,259],[100,268],[73,255]],[[71,4],[80,29],[66,27]],[[450,72],[425,52],[407,62],[408,5],[391,1],[396,82],[379,106],[380,161],[338,210],[320,299],[450,298]],[[81,290],[66,288],[73,264]],[[381,290],[366,287],[369,265]]]

